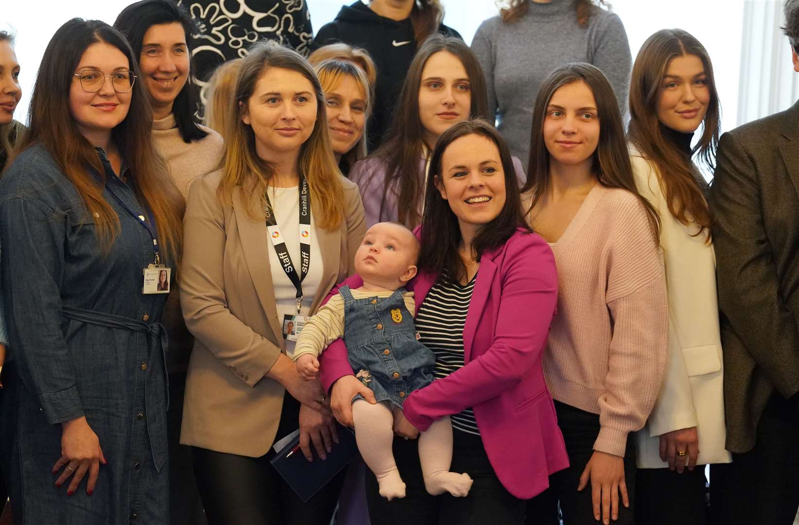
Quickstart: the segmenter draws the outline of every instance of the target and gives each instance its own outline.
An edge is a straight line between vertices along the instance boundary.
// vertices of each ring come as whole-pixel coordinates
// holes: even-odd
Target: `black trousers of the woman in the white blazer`
[[[635,525],[706,525],[705,465],[682,474],[639,468],[635,475]]]

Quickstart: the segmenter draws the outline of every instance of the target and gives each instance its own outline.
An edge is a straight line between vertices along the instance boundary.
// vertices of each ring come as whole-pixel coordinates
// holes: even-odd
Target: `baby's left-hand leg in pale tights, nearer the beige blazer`
[[[391,501],[405,497],[405,483],[394,461],[394,416],[386,402],[369,404],[356,400],[352,404],[352,422],[360,455],[380,484],[380,495]],[[450,447],[450,454],[451,454]]]

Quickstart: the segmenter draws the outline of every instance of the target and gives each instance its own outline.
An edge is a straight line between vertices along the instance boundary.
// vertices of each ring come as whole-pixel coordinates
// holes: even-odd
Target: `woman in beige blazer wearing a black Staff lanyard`
[[[300,380],[284,336],[353,272],[364,237],[324,108],[304,58],[259,44],[241,62],[222,167],[189,189],[181,306],[195,343],[181,443],[193,446],[211,525],[328,523],[336,507],[340,479],[302,503],[268,462],[298,426],[308,459],[337,439],[320,384]]]

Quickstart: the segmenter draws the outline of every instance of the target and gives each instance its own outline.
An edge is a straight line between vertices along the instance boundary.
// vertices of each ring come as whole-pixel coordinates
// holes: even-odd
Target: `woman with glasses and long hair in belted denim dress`
[[[163,294],[183,199],[125,38],[74,18],[39,67],[0,181],[10,362],[4,471],[19,523],[167,523]],[[85,482],[85,483],[84,483]]]

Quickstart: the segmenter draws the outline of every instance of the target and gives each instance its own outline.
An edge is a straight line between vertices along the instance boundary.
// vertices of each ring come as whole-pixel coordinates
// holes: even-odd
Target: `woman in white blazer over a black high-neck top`
[[[666,377],[636,436],[635,520],[704,525],[704,465],[729,463],[730,455],[708,185],[691,161],[698,152],[712,165],[718,143],[718,94],[701,43],[682,30],[658,31],[644,43],[633,67],[630,117],[636,184],[661,219],[670,316]]]

